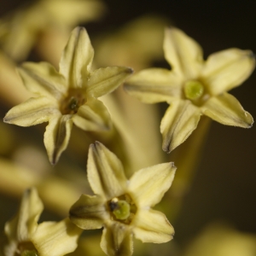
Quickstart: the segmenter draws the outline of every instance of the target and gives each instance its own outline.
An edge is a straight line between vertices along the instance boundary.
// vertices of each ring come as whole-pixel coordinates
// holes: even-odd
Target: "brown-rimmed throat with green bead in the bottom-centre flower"
[[[137,207],[131,200],[130,195],[120,195],[108,201],[108,207],[114,220],[124,224],[130,224],[137,212]]]

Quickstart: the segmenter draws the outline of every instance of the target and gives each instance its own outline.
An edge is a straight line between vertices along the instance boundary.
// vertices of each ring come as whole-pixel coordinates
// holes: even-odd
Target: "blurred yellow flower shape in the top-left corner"
[[[26,58],[45,31],[70,31],[80,22],[102,15],[99,0],[38,0],[0,20],[0,44],[15,60]]]

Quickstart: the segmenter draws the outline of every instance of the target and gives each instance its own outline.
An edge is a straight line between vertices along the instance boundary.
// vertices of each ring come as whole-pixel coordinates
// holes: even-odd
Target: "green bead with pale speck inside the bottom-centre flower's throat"
[[[110,208],[115,218],[120,220],[125,220],[131,214],[130,204],[125,200],[118,200],[117,198],[114,198],[110,202]]]

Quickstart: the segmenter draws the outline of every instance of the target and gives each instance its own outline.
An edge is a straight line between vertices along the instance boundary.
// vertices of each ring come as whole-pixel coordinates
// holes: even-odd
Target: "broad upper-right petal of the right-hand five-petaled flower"
[[[212,95],[217,96],[240,85],[254,67],[252,51],[225,49],[208,57],[201,77]]]

